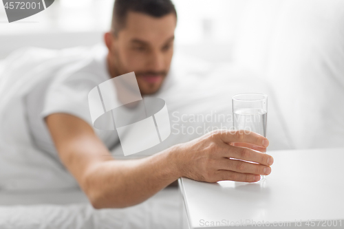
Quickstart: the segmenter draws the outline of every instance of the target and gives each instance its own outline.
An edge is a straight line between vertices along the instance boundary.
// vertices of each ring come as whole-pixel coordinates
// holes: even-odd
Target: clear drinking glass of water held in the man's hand
[[[237,94],[232,98],[233,127],[236,130],[253,131],[266,138],[268,96],[258,93]],[[261,181],[266,179],[261,175]]]

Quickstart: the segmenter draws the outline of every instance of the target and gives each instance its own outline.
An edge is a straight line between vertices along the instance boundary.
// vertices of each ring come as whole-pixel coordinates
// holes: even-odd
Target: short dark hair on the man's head
[[[141,12],[152,17],[163,17],[177,11],[171,0],[116,0],[112,14],[111,32],[115,35],[125,27],[128,12]]]

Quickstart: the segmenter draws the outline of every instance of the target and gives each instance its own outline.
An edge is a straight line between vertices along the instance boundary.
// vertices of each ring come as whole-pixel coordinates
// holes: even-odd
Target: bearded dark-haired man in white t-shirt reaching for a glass
[[[45,120],[53,141],[47,142],[43,129],[36,126],[36,145],[46,151],[49,143],[56,148],[94,208],[139,204],[178,177],[257,182],[259,175],[271,171],[272,157],[252,150],[263,152],[268,146],[268,140],[256,133],[212,132],[149,157],[114,160],[109,146],[118,139],[107,133],[99,138],[94,132],[88,92],[109,78],[135,72],[141,94],[155,94],[169,72],[176,23],[170,0],[116,0],[111,32],[105,34],[107,55],[98,63],[66,69],[50,85],[41,116],[29,115],[31,123]]]

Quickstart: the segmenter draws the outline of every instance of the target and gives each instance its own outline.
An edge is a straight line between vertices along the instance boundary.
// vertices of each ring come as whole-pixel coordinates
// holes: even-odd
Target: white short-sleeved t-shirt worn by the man
[[[25,97],[32,140],[39,149],[49,153],[55,160],[58,160],[57,151],[44,121],[52,113],[69,113],[84,120],[108,149],[119,142],[116,131],[95,129],[89,113],[89,91],[111,78],[107,72],[106,56],[106,48],[98,47],[94,54],[66,65],[54,76],[39,83]]]

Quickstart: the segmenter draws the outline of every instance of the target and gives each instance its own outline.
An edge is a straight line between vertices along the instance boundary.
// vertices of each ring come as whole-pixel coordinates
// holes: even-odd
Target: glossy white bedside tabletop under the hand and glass
[[[190,228],[344,228],[344,148],[268,153],[265,182],[179,179]]]

